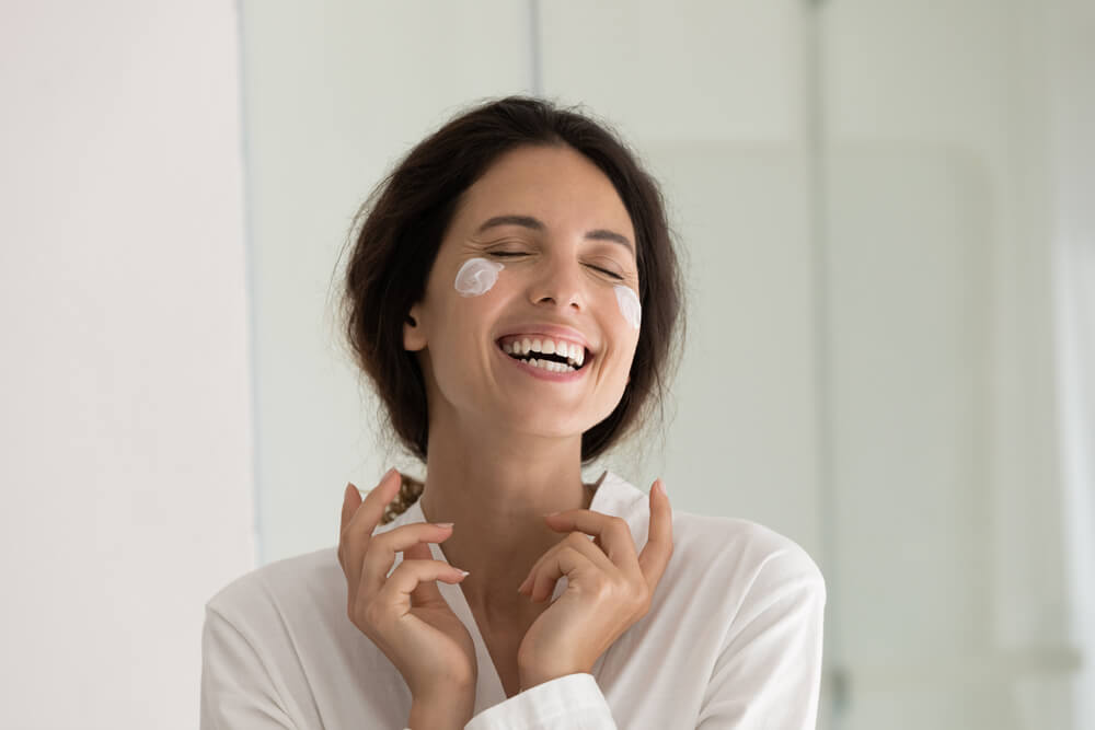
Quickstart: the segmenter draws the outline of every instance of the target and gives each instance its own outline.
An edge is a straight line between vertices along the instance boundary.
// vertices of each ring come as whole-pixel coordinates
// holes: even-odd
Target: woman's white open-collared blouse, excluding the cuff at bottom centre
[[[641,552],[647,499],[606,472],[589,509],[626,520]],[[415,522],[425,522],[418,502],[373,534]],[[446,559],[438,544],[429,548]],[[336,553],[272,563],[208,601],[203,730],[406,728],[411,691],[346,615]],[[673,554],[649,613],[592,673],[509,698],[460,586],[437,587],[475,642],[479,684],[465,730],[816,727],[825,579],[798,544],[753,522],[673,510]],[[564,577],[552,600],[565,588]]]

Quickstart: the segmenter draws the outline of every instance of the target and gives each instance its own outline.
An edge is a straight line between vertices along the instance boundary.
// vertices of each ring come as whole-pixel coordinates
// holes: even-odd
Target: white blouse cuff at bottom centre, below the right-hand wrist
[[[488,707],[464,730],[616,730],[592,674],[567,674]]]

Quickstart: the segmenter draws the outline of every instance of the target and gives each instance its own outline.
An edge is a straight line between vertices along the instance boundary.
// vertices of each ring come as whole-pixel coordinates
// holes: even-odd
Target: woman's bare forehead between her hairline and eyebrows
[[[500,155],[461,196],[457,223],[474,229],[499,215],[533,216],[549,229],[608,228],[635,240],[612,182],[570,147],[520,147]]]

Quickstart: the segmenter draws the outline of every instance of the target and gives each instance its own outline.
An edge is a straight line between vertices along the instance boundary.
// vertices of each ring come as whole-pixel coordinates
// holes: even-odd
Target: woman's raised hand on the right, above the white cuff
[[[563,576],[566,590],[521,640],[521,690],[591,673],[597,658],[650,610],[673,553],[672,507],[661,479],[650,487],[649,500],[649,537],[637,556],[622,518],[580,509],[544,517],[552,530],[570,534],[537,560],[518,591],[532,601],[548,601]]]

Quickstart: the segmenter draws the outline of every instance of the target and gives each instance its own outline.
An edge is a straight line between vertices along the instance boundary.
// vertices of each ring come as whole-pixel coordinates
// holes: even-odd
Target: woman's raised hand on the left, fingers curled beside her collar
[[[459,583],[464,576],[434,560],[426,544],[447,540],[452,528],[416,522],[372,534],[399,489],[394,468],[365,501],[357,487],[346,486],[338,563],[349,587],[349,619],[399,669],[416,700],[469,687],[474,693],[475,645],[434,582]],[[392,570],[401,551],[403,560]]]

